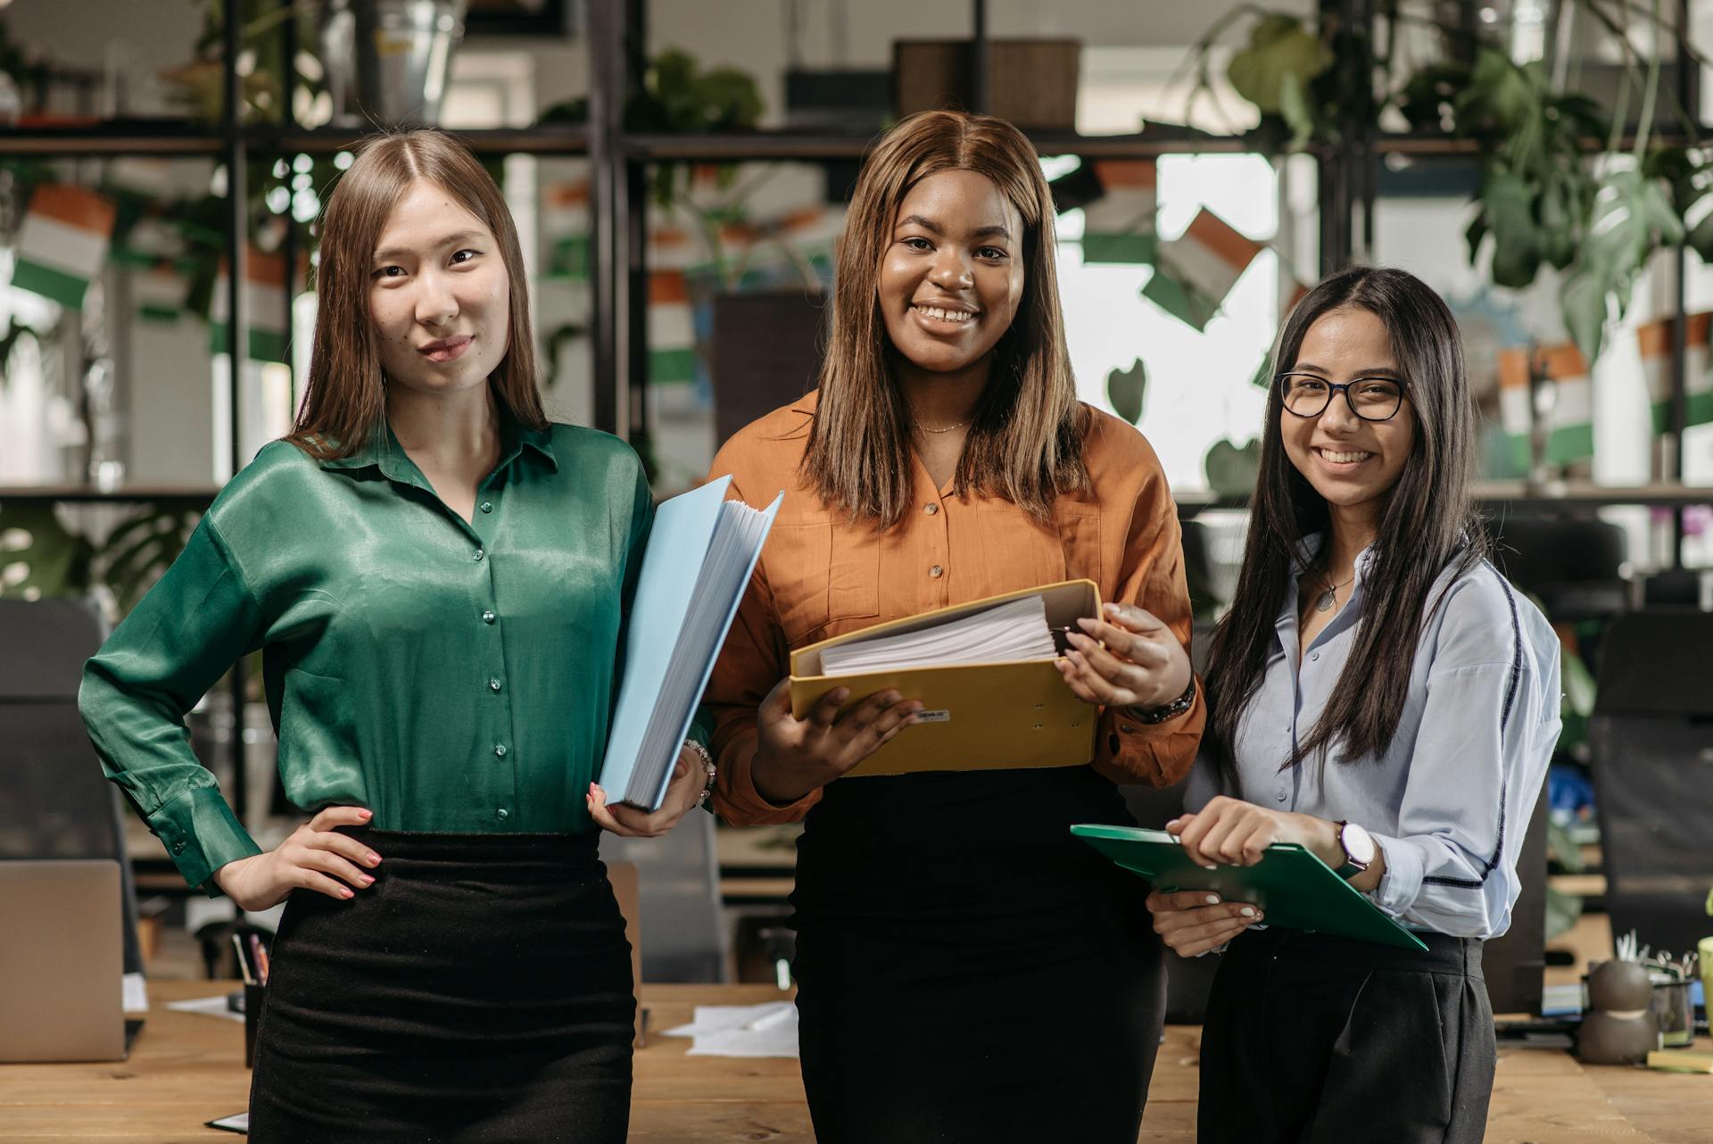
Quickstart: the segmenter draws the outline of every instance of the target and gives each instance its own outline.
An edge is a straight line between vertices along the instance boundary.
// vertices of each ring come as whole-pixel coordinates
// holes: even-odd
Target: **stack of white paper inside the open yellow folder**
[[[821,673],[863,675],[954,663],[1052,659],[1055,654],[1047,601],[1023,596],[935,627],[836,644],[821,652]]]

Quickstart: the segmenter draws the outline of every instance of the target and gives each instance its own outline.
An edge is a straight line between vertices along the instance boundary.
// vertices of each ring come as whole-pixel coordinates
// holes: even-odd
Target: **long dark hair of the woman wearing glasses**
[[[1391,336],[1415,411],[1415,440],[1398,483],[1386,497],[1364,575],[1364,620],[1355,647],[1321,719],[1280,769],[1295,767],[1334,740],[1345,760],[1381,752],[1398,731],[1422,625],[1437,601],[1434,581],[1487,555],[1473,514],[1475,402],[1463,363],[1463,339],[1446,303],[1422,279],[1384,267],[1355,267],[1310,289],[1285,319],[1273,349],[1276,370],[1297,361],[1314,322],[1333,310],[1367,310]],[[1237,789],[1237,724],[1261,683],[1278,635],[1297,545],[1328,531],[1326,500],[1285,456],[1280,387],[1268,396],[1261,433],[1261,476],[1249,507],[1249,539],[1232,610],[1213,637],[1208,671],[1211,723],[1208,747],[1228,789]],[[1331,545],[1322,548],[1322,555]]]

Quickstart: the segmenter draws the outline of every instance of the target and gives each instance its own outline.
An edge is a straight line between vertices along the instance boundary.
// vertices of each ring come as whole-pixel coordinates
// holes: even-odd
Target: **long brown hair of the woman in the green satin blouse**
[[[319,461],[349,457],[368,444],[385,416],[380,349],[375,346],[375,325],[368,320],[368,269],[387,216],[418,180],[449,194],[498,241],[510,279],[510,322],[505,356],[488,375],[488,385],[495,401],[519,423],[546,428],[536,389],[529,283],[512,212],[493,178],[464,144],[435,130],[399,132],[361,144],[320,217],[310,380],[298,420],[286,435]]]

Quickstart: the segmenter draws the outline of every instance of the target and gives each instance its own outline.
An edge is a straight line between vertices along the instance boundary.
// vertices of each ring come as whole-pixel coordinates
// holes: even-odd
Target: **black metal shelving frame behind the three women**
[[[288,2],[288,0],[283,0]],[[1322,10],[1336,14],[1346,26],[1374,26],[1374,0],[1321,0]],[[224,21],[224,110],[218,128],[175,122],[120,122],[91,123],[67,128],[9,128],[0,132],[0,154],[36,158],[110,158],[110,156],[161,156],[207,158],[226,166],[228,212],[226,241],[231,265],[226,276],[228,346],[247,344],[248,315],[243,298],[243,260],[247,252],[245,219],[245,159],[259,154],[331,154],[353,146],[367,132],[349,128],[300,128],[286,125],[247,125],[242,122],[242,77],[238,0],[226,0]],[[603,428],[632,442],[644,444],[648,433],[648,168],[665,161],[742,163],[742,161],[829,161],[862,158],[874,142],[868,135],[827,132],[747,132],[730,135],[656,135],[629,134],[624,127],[624,108],[639,77],[630,74],[630,60],[641,57],[646,45],[646,0],[589,0],[588,51],[589,51],[589,122],[588,125],[543,125],[533,128],[463,130],[457,135],[481,154],[586,154],[591,166],[591,252],[593,252],[593,377],[596,428]],[[1687,27],[1687,0],[1677,0],[1679,27]],[[283,21],[281,34],[288,38],[286,58],[293,57],[295,22]],[[971,39],[975,43],[973,108],[988,106],[987,2],[971,0]],[[1679,43],[1679,55],[1686,55]],[[1358,67],[1362,62],[1352,62]],[[289,69],[288,69],[289,72]],[[291,77],[286,77],[286,111],[291,113]],[[1677,69],[1679,101],[1689,106],[1689,69]],[[1381,135],[1372,127],[1374,116],[1353,108],[1345,123],[1345,147],[1319,147],[1314,158],[1319,171],[1322,267],[1348,265],[1357,248],[1355,221],[1364,226],[1365,241],[1372,248],[1372,217],[1376,200],[1376,171],[1384,154],[1418,158],[1470,156],[1477,146],[1471,140],[1439,135]],[[1043,154],[1077,154],[1098,159],[1156,158],[1163,154],[1216,154],[1264,151],[1264,144],[1250,135],[1216,137],[1189,128],[1151,128],[1136,135],[1083,137],[1074,132],[1035,132],[1031,135]],[[1590,140],[1597,147],[1598,140]],[[286,329],[289,300],[296,289],[295,250],[286,252]],[[1677,313],[1684,310],[1686,250],[1677,250]],[[288,366],[289,368],[289,366]],[[1687,420],[1684,385],[1684,322],[1675,324],[1672,344],[1672,404],[1670,435],[1680,442]],[[230,377],[231,456],[236,461],[240,440],[240,389],[242,368],[235,360]],[[1680,481],[1682,449],[1672,450],[1668,476]],[[214,488],[122,488],[99,492],[94,488],[5,488],[0,500],[65,500],[65,502],[137,502],[171,500],[180,503],[207,502]],[[1603,503],[1648,503],[1682,509],[1713,502],[1710,490],[1687,490],[1680,483],[1656,485],[1638,490],[1576,488],[1559,497],[1540,497],[1518,486],[1516,490],[1487,490],[1487,503],[1514,507],[1590,509]],[[1203,507],[1240,507],[1220,498],[1189,497],[1185,510]],[[1674,512],[1680,562],[1682,515]],[[231,690],[235,711],[243,709],[243,664],[233,670]],[[242,730],[242,723],[235,724]],[[235,789],[233,800],[243,805],[243,742],[233,735]]]

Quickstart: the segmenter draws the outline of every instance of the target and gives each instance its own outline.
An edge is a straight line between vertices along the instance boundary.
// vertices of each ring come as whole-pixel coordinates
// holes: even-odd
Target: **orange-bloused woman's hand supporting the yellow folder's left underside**
[[[791,716],[791,680],[767,692],[755,721],[761,736],[750,781],[771,803],[788,805],[826,786],[916,721],[922,700],[901,702],[896,690],[868,695],[843,716],[848,687],[827,692],[807,719]]]

